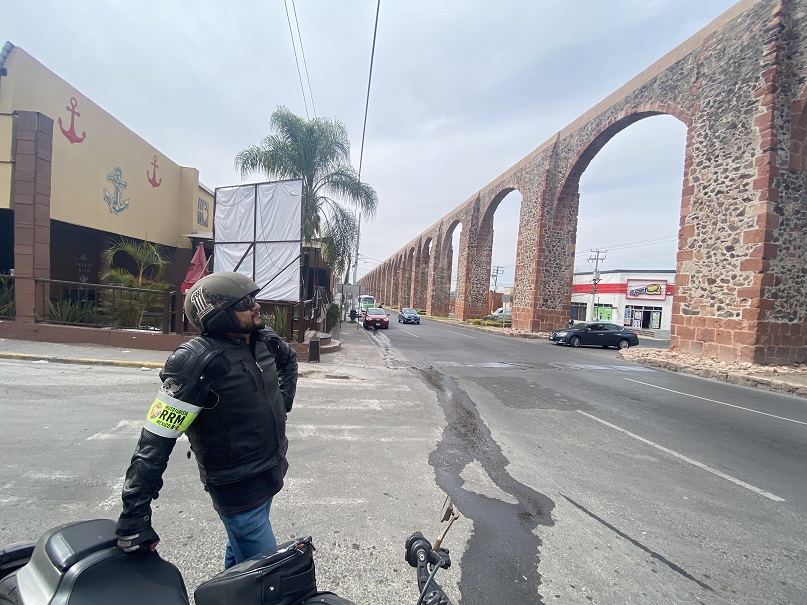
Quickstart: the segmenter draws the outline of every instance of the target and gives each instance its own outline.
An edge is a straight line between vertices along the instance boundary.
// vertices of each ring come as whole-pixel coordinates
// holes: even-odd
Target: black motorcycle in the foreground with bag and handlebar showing
[[[435,576],[451,566],[441,545],[458,518],[448,497],[446,525],[434,544],[420,532],[406,540],[405,559],[417,569],[417,605],[450,605]],[[179,569],[157,551],[124,553],[115,527],[109,519],[78,521],[0,548],[0,605],[188,605]],[[313,551],[310,537],[298,538],[243,561],[200,584],[196,605],[354,605],[317,591]]]

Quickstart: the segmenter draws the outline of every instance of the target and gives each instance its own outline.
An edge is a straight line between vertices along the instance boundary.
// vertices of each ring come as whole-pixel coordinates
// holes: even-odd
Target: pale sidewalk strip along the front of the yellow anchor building
[[[378,348],[355,323],[343,322],[331,332],[342,343],[339,351],[320,355],[320,362],[300,362],[302,377],[361,377],[362,369],[383,367]],[[125,349],[94,344],[59,344],[0,338],[0,359],[31,363],[77,363],[162,369],[171,351]]]

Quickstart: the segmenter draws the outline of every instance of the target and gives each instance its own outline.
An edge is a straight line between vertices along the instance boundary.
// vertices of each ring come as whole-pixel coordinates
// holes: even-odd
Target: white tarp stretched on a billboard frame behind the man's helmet
[[[250,277],[262,286],[258,300],[299,301],[302,187],[296,180],[216,189],[214,271]]]

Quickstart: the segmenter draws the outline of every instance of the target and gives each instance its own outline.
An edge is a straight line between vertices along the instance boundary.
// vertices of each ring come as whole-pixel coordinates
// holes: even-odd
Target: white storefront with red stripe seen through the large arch
[[[670,337],[675,271],[575,273],[571,318],[607,321]],[[596,281],[596,284],[594,283]]]

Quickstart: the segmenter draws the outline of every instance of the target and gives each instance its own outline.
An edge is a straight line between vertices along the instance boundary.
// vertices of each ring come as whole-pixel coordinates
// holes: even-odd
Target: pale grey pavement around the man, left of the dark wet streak
[[[433,540],[440,529],[445,494],[428,452],[443,417],[417,376],[389,370],[363,333],[354,334],[357,363],[330,378],[333,366],[322,364],[321,377],[298,382],[287,424],[290,469],[272,525],[281,543],[313,536],[321,590],[356,603],[414,604],[404,542],[416,530]],[[0,545],[72,521],[117,519],[157,371],[0,360],[0,376]],[[180,439],[153,518],[159,552],[192,594],[221,571],[226,536],[188,453]],[[470,529],[461,519],[451,530],[458,561]],[[455,598],[457,581],[445,574]]]

